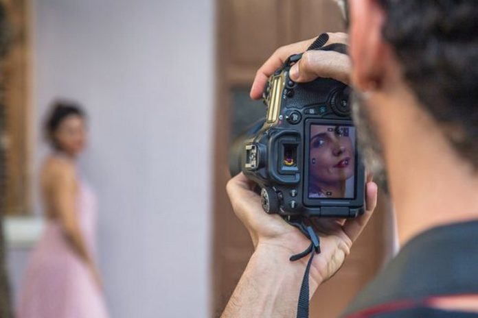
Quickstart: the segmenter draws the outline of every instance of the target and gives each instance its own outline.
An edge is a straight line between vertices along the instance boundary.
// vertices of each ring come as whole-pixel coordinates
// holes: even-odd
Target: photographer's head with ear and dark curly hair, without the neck
[[[420,106],[446,130],[453,147],[478,164],[476,1],[352,3],[357,4],[355,16],[368,14],[375,25],[367,27],[363,16],[355,21],[352,16],[356,25],[352,27],[352,58],[361,60],[354,65],[355,83],[367,88],[387,84],[383,82],[394,73],[400,76]],[[369,50],[364,48],[367,45],[371,45]],[[395,63],[398,67],[389,67]]]

